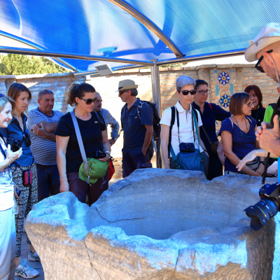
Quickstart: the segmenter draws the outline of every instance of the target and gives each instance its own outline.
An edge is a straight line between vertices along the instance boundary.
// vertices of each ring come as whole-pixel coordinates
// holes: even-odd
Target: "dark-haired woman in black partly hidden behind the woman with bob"
[[[251,96],[253,102],[252,118],[257,121],[257,127],[262,123],[263,118],[265,118],[265,108],[262,107],[262,92],[258,85],[248,85],[244,92]]]

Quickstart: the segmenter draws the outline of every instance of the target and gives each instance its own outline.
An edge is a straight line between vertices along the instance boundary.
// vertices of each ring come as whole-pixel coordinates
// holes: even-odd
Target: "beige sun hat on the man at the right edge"
[[[280,23],[270,22],[262,28],[258,36],[253,41],[249,41],[250,45],[245,50],[245,58],[248,62],[258,60],[257,53],[267,45],[280,41]]]

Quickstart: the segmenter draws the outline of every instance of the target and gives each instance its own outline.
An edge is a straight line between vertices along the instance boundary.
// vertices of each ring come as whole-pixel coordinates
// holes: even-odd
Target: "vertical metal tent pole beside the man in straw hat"
[[[153,66],[151,66],[151,78],[152,78],[152,88],[153,88],[153,102],[157,106],[158,113],[160,117],[161,113],[161,102],[160,102],[160,71],[158,70],[158,65],[156,64],[158,59],[151,59]],[[157,158],[157,168],[162,168],[162,154],[160,151],[160,137],[156,141],[156,147],[158,152],[155,153]]]

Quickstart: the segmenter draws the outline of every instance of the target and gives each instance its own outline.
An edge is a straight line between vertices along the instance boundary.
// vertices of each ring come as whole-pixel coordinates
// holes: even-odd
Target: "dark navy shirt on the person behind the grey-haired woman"
[[[220,106],[211,103],[212,109],[209,106],[208,102],[205,102],[204,104],[204,111],[203,113],[200,111],[200,106],[195,104],[193,102],[193,108],[197,109],[200,112],[200,116],[202,117],[202,125],[204,129],[206,130],[209,138],[211,141],[216,142],[218,141],[218,138],[216,136],[216,124],[215,120],[223,121],[225,118],[230,118],[231,113],[228,111],[225,111]],[[204,134],[204,131],[200,127],[200,138],[202,139],[205,148],[207,149],[208,153],[211,153],[211,147],[209,144],[209,141],[207,140],[207,137]]]

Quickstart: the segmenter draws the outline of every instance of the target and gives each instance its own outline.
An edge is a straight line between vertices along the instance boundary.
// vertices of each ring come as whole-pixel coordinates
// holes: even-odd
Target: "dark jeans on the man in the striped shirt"
[[[59,194],[59,172],[57,165],[39,165],[36,163],[38,176],[38,202]]]

